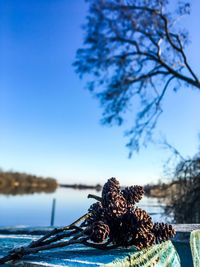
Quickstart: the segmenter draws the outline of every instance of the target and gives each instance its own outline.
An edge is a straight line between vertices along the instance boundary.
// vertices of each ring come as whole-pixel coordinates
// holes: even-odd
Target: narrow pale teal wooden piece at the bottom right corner
[[[190,246],[194,267],[200,267],[200,230],[191,232]]]

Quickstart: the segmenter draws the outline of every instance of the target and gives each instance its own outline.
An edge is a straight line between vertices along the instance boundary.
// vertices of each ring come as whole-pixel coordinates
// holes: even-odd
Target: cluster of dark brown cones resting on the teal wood
[[[93,242],[109,238],[122,247],[146,249],[174,237],[175,230],[167,223],[153,223],[151,216],[135,204],[142,199],[143,187],[131,186],[120,190],[116,178],[108,179],[102,191],[102,201],[89,208],[87,234]]]

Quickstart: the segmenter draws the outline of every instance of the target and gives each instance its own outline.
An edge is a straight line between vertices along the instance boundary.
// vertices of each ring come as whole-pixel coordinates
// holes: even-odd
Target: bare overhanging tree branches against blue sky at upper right
[[[185,54],[187,32],[177,21],[190,13],[189,3],[169,12],[167,0],[89,0],[84,48],[74,62],[88,88],[104,106],[102,122],[121,125],[135,105],[135,124],[127,146],[138,151],[152,136],[167,90],[182,83],[200,89]],[[138,112],[138,99],[140,109]]]

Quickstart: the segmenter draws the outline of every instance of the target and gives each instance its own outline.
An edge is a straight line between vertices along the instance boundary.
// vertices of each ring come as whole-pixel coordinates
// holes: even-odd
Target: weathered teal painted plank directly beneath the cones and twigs
[[[0,256],[4,256],[14,247],[26,246],[38,234],[48,229],[3,229],[0,231]],[[37,235],[36,235],[37,233]],[[22,261],[15,262],[17,266],[180,266],[180,259],[171,241],[144,251],[135,248],[101,251],[87,248],[83,245],[73,245],[65,248],[42,251],[28,255]],[[5,265],[8,266],[8,265]]]

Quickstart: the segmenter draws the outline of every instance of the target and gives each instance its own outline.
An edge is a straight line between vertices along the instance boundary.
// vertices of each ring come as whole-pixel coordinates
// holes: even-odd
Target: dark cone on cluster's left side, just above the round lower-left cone
[[[104,209],[101,202],[92,204],[88,212],[91,213],[91,216],[86,219],[85,225],[91,225],[96,221],[104,221]]]

